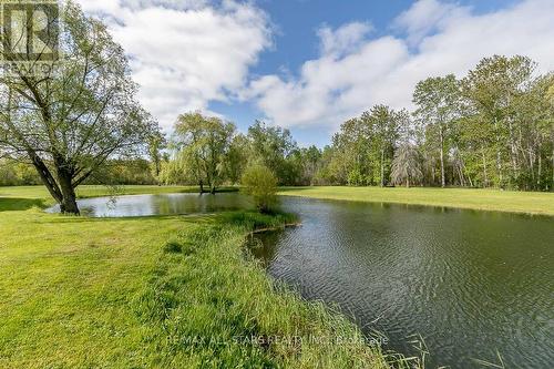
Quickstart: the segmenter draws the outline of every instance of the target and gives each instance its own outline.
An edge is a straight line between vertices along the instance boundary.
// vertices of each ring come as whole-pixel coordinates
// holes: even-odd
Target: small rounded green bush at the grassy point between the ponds
[[[261,213],[269,212],[277,203],[277,178],[264,165],[253,165],[246,168],[240,181],[243,191],[254,198],[256,207]]]

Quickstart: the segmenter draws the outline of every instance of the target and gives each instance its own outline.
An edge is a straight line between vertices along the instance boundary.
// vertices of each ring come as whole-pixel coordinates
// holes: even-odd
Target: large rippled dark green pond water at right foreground
[[[268,273],[338,304],[428,368],[554,368],[554,218],[284,198],[302,225],[260,235]]]

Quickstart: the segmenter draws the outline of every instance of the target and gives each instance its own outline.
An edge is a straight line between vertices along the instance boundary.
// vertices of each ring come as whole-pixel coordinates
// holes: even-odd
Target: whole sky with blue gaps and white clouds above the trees
[[[551,0],[79,1],[122,43],[168,132],[201,110],[322,146],[343,120],[377,103],[411,109],[419,80],[461,78],[483,57],[554,66]]]

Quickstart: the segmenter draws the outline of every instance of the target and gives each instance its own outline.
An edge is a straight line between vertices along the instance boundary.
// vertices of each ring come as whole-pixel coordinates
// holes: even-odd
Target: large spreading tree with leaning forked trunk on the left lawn
[[[156,124],[136,102],[127,59],[105,25],[72,1],[53,21],[63,24],[61,58],[28,52],[23,61],[43,73],[0,74],[0,151],[29,161],[61,211],[79,214],[75,188],[111,157],[142,153]]]

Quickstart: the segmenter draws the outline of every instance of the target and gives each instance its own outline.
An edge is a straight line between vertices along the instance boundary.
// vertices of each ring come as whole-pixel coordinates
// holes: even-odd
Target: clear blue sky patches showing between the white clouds
[[[306,60],[316,59],[319,53],[317,30],[324,24],[338,28],[352,21],[370,21],[376,34],[383,33],[389,22],[413,1],[332,1],[332,0],[261,0],[257,6],[269,14],[275,27],[274,48],[260,54],[253,74],[264,75],[286,70],[298,74]],[[483,1],[481,1],[483,2]],[[242,130],[247,130],[255,120],[264,120],[264,112],[249,102],[212,102],[209,109],[233,117]],[[322,146],[329,143],[327,132],[318,129],[291,129],[301,143]],[[316,131],[316,132],[314,132]]]

